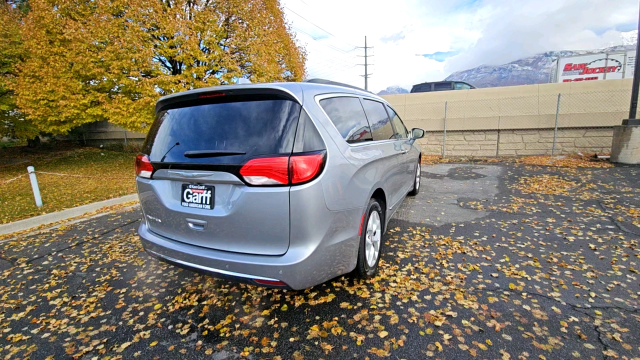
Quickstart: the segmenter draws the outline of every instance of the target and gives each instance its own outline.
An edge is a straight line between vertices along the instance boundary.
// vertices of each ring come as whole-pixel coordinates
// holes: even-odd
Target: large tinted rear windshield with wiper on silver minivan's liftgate
[[[278,95],[221,96],[170,106],[157,113],[147,135],[145,153],[152,162],[239,164],[253,156],[291,153],[301,110]],[[189,158],[188,151],[211,154]]]

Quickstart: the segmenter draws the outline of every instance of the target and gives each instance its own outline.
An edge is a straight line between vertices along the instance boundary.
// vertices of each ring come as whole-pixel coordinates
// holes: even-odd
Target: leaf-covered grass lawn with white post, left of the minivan
[[[0,183],[36,171],[96,176],[97,178],[36,174],[42,208],[37,208],[29,177],[0,185],[0,224],[52,213],[136,192],[131,152],[91,147],[57,147],[36,152],[26,147],[0,149]]]

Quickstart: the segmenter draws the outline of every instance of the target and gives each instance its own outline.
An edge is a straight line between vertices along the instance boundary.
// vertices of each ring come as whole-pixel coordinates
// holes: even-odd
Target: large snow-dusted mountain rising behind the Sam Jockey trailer
[[[477,88],[493,86],[529,85],[548,83],[552,61],[560,56],[601,53],[605,51],[620,51],[634,49],[637,30],[622,34],[623,45],[607,47],[605,49],[581,51],[547,51],[529,58],[522,58],[503,65],[480,65],[474,69],[456,71],[445,80],[466,81]],[[631,40],[632,39],[632,40]]]

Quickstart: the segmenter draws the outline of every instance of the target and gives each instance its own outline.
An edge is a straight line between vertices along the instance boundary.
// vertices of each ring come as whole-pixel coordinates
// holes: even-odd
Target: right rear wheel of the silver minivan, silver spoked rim
[[[361,279],[368,279],[378,271],[378,263],[380,262],[380,254],[382,253],[384,223],[385,220],[380,203],[376,199],[369,200],[367,211],[365,211],[365,219],[364,222],[362,222],[360,249],[358,249],[358,262],[355,268],[355,275]],[[378,247],[377,252],[374,251],[376,241]],[[372,250],[374,251],[373,253],[371,253]]]

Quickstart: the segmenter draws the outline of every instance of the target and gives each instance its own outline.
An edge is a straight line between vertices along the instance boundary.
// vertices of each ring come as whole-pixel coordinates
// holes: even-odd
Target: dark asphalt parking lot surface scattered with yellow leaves
[[[0,357],[634,359],[637,167],[425,165],[380,272],[305,291],[150,258],[139,208],[0,243]]]

